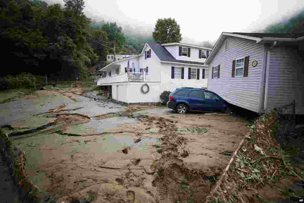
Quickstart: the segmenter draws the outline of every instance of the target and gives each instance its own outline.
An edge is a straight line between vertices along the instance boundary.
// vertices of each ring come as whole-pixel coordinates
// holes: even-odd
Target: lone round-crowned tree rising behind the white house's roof
[[[180,42],[182,40],[180,27],[174,18],[157,19],[152,35],[155,41],[161,44]]]

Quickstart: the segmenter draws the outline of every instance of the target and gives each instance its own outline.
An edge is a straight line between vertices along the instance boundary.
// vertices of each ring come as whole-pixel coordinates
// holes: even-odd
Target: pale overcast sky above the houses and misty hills
[[[85,13],[106,21],[154,28],[158,18],[175,18],[182,37],[196,41],[217,40],[222,32],[258,30],[303,8],[303,0],[85,0]]]

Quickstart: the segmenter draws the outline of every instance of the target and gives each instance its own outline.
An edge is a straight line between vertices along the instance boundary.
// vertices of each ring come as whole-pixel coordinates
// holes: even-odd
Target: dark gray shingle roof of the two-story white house
[[[157,57],[161,61],[169,61],[169,62],[177,62],[177,63],[188,63],[188,64],[197,64],[197,65],[204,65],[204,63],[196,62],[196,61],[183,61],[183,60],[176,60],[170,52],[161,44],[159,43],[147,43],[151,49],[154,51],[154,53],[157,55]]]

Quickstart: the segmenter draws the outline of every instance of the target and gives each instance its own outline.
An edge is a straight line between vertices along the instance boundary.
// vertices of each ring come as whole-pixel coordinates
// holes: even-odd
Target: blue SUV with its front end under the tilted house
[[[200,88],[177,88],[169,95],[167,107],[179,114],[187,111],[227,112],[228,102],[212,91]]]

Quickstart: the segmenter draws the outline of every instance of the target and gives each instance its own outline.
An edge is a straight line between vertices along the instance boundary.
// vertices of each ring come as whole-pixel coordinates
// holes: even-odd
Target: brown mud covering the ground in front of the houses
[[[228,114],[121,106],[81,88],[0,108],[30,180],[58,202],[203,202],[248,125]]]

